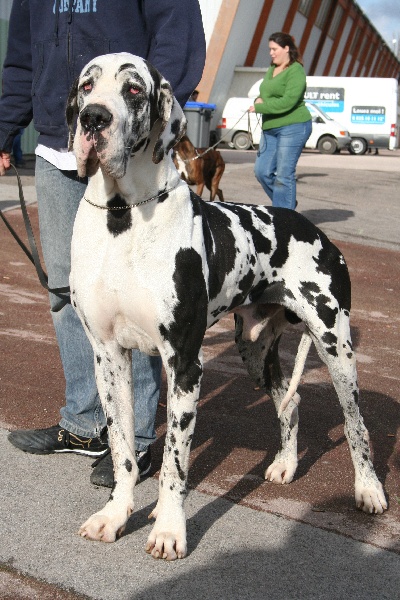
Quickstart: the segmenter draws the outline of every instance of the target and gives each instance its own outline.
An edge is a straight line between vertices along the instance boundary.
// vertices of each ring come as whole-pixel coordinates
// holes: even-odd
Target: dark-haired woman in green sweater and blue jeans
[[[254,173],[273,206],[296,208],[296,165],[311,134],[304,104],[306,74],[293,38],[273,33],[272,63],[250,112],[262,114],[262,136]]]

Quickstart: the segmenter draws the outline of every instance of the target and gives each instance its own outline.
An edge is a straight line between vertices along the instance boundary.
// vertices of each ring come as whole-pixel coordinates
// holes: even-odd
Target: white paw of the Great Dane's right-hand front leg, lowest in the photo
[[[187,553],[185,516],[172,521],[157,517],[145,549],[153,558],[165,560],[184,558]]]

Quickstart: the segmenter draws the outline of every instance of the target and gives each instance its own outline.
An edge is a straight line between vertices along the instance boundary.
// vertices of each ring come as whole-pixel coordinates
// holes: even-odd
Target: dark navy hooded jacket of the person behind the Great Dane
[[[92,58],[130,52],[152,63],[183,106],[205,62],[198,0],[14,0],[0,99],[0,149],[34,121],[39,143],[67,147],[69,90]]]

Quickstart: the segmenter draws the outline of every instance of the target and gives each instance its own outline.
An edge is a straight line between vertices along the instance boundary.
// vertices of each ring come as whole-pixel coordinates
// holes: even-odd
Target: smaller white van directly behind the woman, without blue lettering
[[[258,93],[260,83],[251,88],[248,98],[229,98],[225,104],[222,119],[217,125],[217,138],[227,142],[231,148],[248,150],[260,143],[261,115],[248,112],[255,97],[250,94],[255,88],[255,93]],[[306,106],[312,118],[312,132],[306,148],[317,149],[322,154],[334,154],[349,146],[351,138],[342,125],[310,102],[306,102]]]

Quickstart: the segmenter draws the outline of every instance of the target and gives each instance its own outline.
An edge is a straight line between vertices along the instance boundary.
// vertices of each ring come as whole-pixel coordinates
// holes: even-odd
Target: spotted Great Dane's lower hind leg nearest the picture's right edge
[[[347,314],[339,313],[336,327],[330,334],[329,351],[314,337],[321,359],[327,365],[339,396],[345,418],[345,435],[355,470],[355,498],[358,508],[367,513],[382,513],[387,508],[385,493],[371,462],[369,435],[360,414],[356,359],[351,346],[350,323]]]

